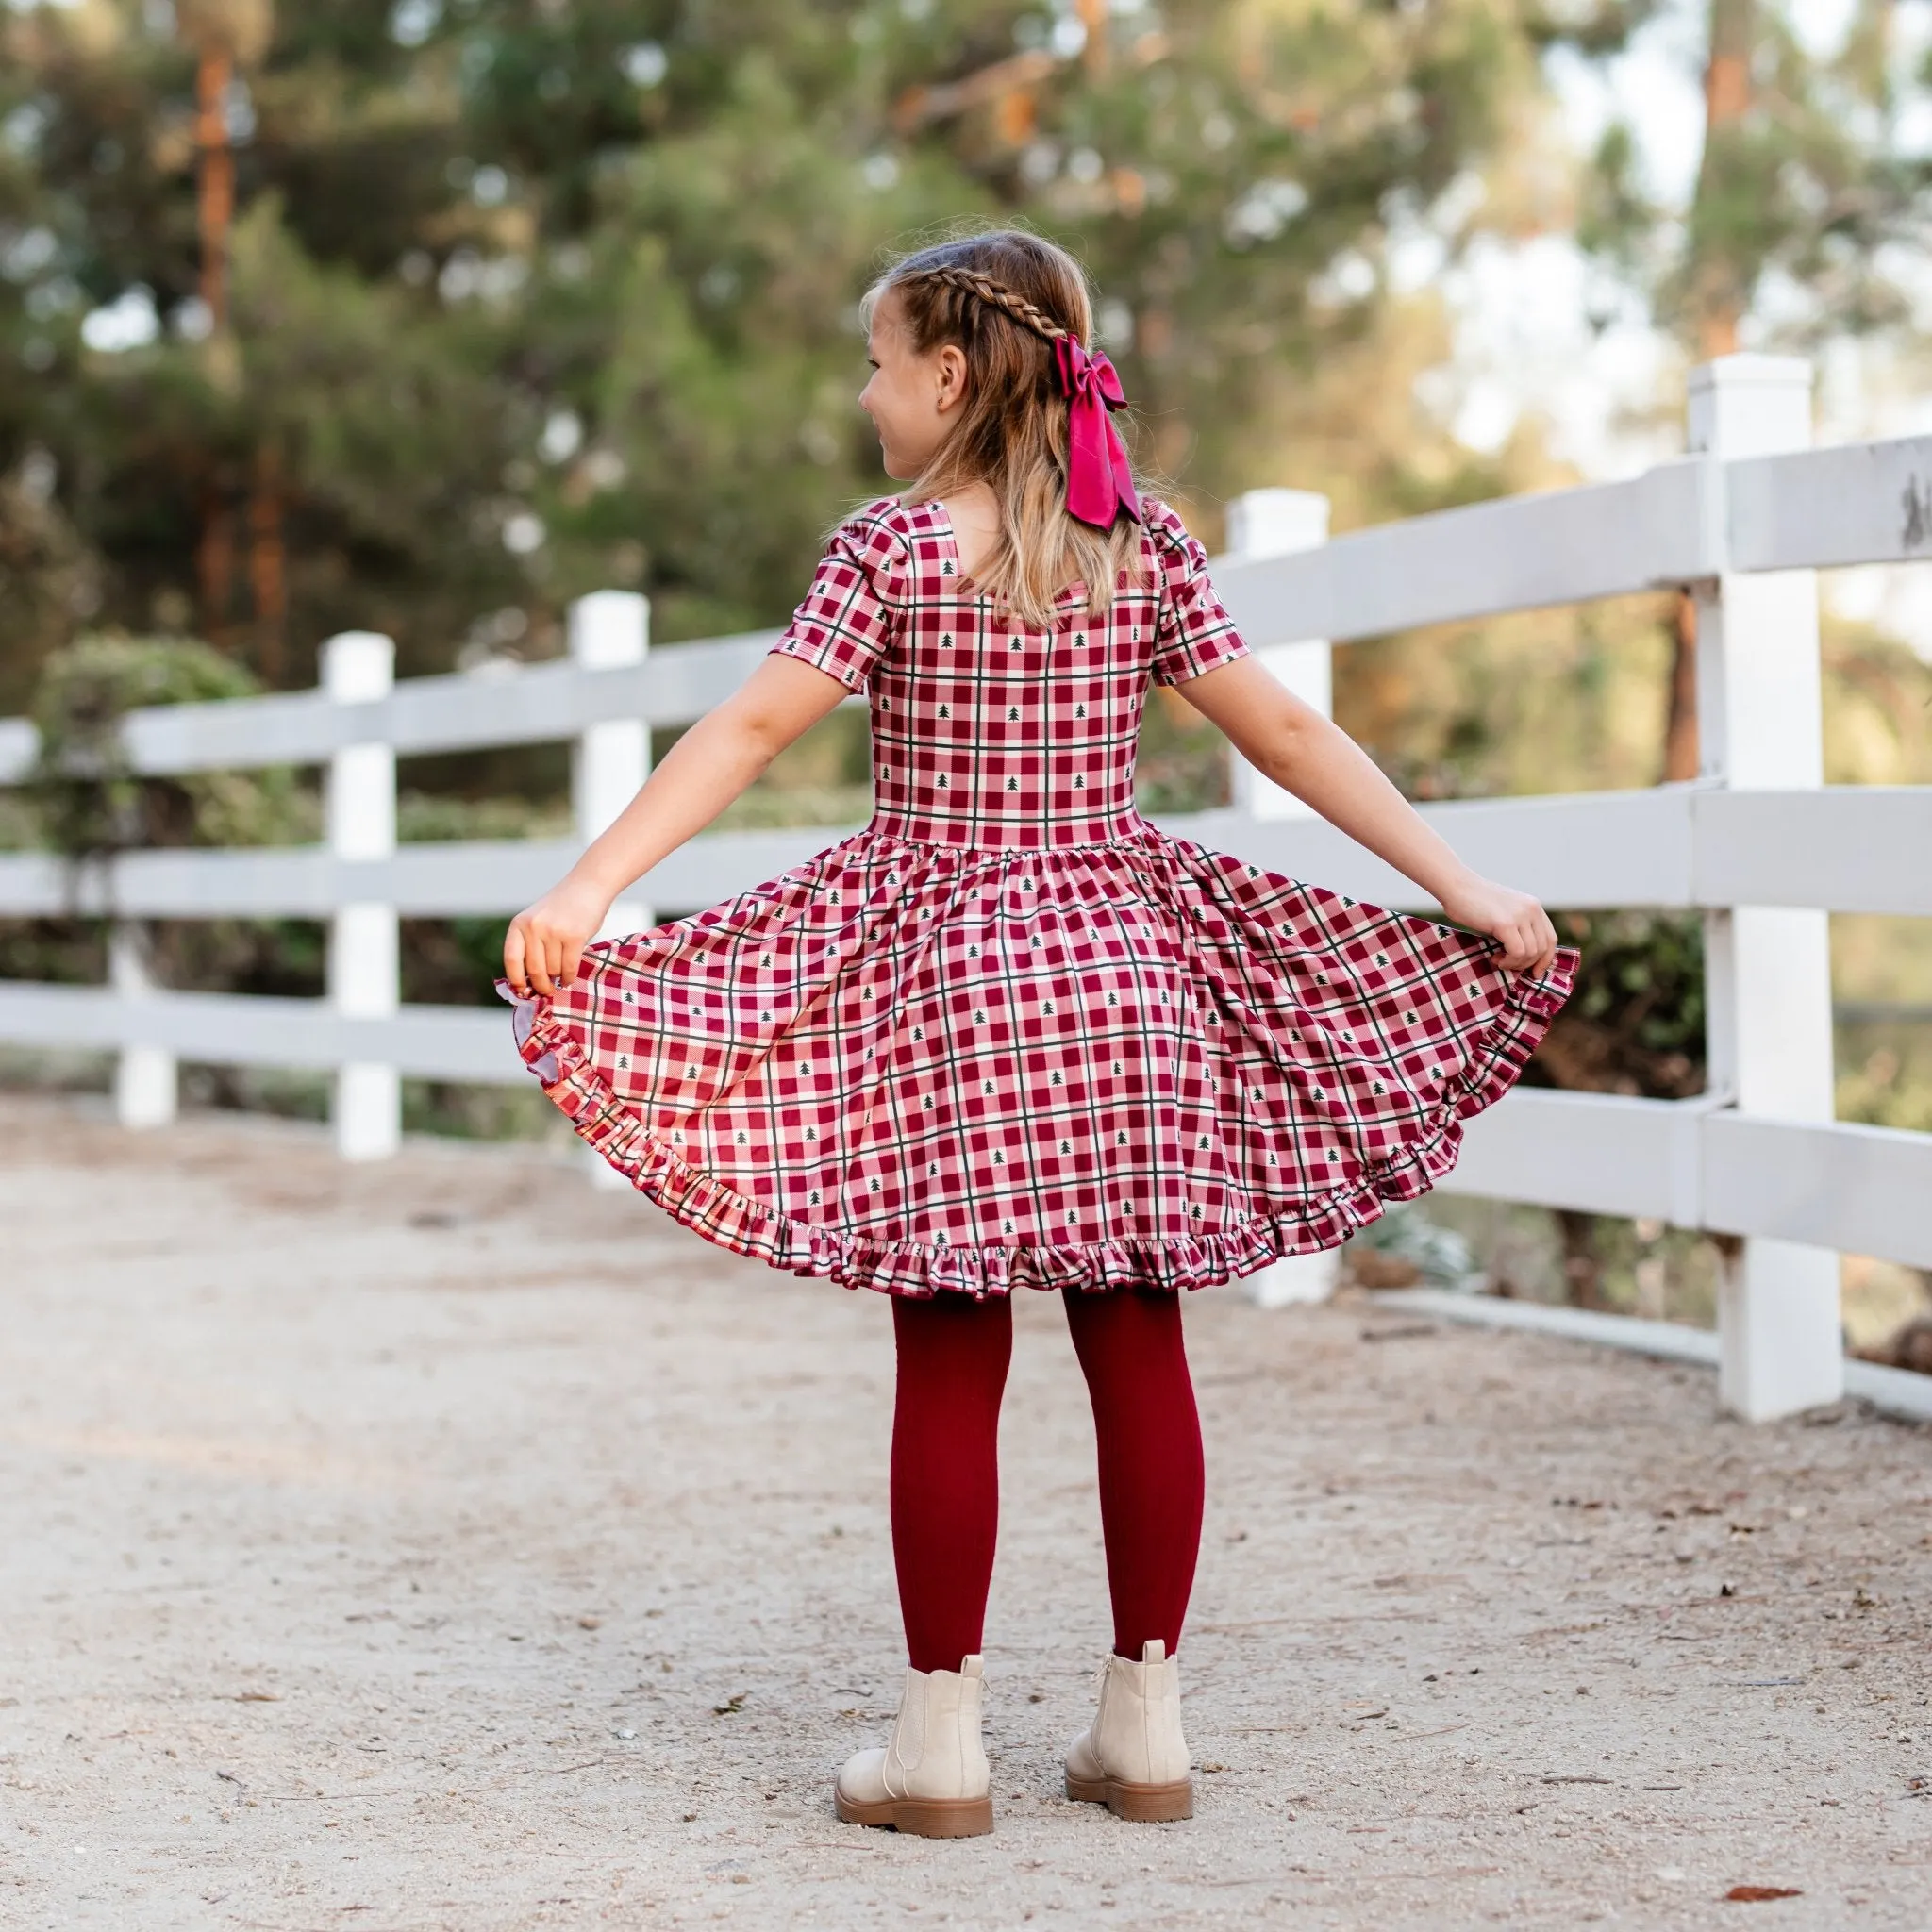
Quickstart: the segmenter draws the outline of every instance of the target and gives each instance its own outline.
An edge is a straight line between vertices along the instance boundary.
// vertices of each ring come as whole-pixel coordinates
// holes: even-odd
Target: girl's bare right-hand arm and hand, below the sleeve
[[[1524,966],[1538,974],[1549,970],[1557,949],[1549,914],[1528,893],[1470,871],[1376,761],[1341,726],[1302,703],[1260,659],[1236,657],[1182,680],[1175,690],[1219,724],[1256,771],[1414,879],[1459,925],[1499,939],[1499,964],[1511,972]]]

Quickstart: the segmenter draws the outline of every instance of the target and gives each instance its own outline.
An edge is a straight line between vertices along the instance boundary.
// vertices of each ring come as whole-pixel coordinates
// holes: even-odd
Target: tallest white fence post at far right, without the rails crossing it
[[[1690,371],[1689,448],[1719,460],[1804,448],[1810,363],[1725,355]],[[1721,491],[1714,498],[1723,502]],[[1806,790],[1824,782],[1818,580],[1812,570],[1694,585],[1696,709],[1704,784]],[[1704,916],[1706,1059],[1739,1113],[1830,1121],[1830,918],[1789,906]],[[1839,1262],[1828,1248],[1748,1238],[1718,1283],[1718,1397],[1748,1422],[1845,1393]]]

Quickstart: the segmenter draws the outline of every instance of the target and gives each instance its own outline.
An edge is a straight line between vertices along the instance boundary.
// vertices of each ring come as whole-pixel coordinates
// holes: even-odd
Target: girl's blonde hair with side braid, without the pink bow
[[[1066,398],[1053,344],[1092,342],[1080,263],[1026,230],[995,228],[896,261],[866,292],[867,327],[887,296],[918,354],[947,342],[966,354],[964,413],[904,500],[985,483],[999,500],[999,537],[974,574],[980,589],[1045,628],[1059,593],[1082,582],[1088,614],[1099,616],[1119,572],[1142,568],[1140,526],[1117,512],[1111,529],[1095,529],[1066,512]]]

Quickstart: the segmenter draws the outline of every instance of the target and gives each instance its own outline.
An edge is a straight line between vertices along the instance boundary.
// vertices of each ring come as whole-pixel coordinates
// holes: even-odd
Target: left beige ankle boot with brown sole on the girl
[[[956,1671],[906,1669],[893,1743],[854,1752],[833,1785],[846,1824],[889,1824],[914,1837],[993,1830],[991,1774],[980,1743],[981,1662]]]

